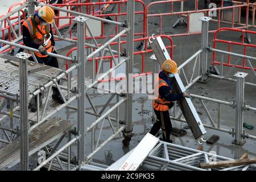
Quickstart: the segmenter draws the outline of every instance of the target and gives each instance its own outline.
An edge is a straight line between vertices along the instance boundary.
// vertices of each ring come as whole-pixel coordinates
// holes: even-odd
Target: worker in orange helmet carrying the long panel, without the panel
[[[172,123],[170,119],[169,109],[174,106],[174,101],[183,97],[190,97],[188,92],[174,94],[172,93],[172,79],[177,73],[177,64],[174,60],[166,60],[162,64],[162,71],[155,80],[155,99],[153,100],[156,122],[152,126],[150,134],[155,135],[161,128],[163,131],[164,142],[172,143],[170,133]]]

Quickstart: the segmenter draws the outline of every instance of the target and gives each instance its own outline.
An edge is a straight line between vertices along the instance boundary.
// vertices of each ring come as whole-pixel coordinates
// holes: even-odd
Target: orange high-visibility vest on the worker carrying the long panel
[[[168,86],[168,84],[162,78],[157,77],[155,80],[155,99],[153,100],[153,108],[158,111],[167,111],[169,110],[168,105],[171,104],[171,101],[161,98],[159,94],[159,88],[161,86]]]

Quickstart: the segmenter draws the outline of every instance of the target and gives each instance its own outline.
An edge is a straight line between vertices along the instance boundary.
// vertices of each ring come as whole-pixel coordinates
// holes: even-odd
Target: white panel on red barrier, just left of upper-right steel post
[[[201,32],[202,22],[199,20],[204,13],[192,13],[189,15],[189,33]]]

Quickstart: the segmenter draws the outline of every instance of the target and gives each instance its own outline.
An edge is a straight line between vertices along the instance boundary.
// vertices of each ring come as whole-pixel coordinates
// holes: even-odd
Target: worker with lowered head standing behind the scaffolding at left
[[[39,50],[39,52],[34,52],[38,63],[59,68],[56,57],[47,55],[47,52],[57,53],[54,49],[55,41],[53,39],[51,28],[54,15],[54,11],[51,7],[43,6],[38,11],[35,11],[34,16],[27,18],[22,25],[23,43],[28,47]],[[32,57],[30,57],[30,60],[34,61]],[[61,97],[59,90],[52,87],[52,91],[52,99],[63,104],[64,100]],[[36,110],[37,104],[35,98],[34,105],[31,106],[31,111],[35,112]]]

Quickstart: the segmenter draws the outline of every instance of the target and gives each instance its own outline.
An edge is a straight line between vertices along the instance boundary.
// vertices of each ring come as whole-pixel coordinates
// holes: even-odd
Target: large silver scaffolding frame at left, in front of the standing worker
[[[47,119],[51,118],[55,113],[57,113],[58,111],[60,111],[61,109],[63,109],[64,107],[67,107],[69,109],[73,109],[73,110],[77,110],[77,115],[78,115],[78,122],[77,122],[77,129],[73,130],[73,131],[69,131],[69,142],[67,144],[65,144],[63,147],[61,147],[59,150],[57,150],[56,152],[54,152],[57,149],[57,146],[59,146],[60,142],[63,141],[63,137],[60,138],[59,142],[57,142],[56,146],[53,148],[53,150],[50,152],[50,156],[49,158],[47,158],[47,160],[45,160],[42,164],[40,164],[40,166],[38,166],[37,168],[35,168],[34,170],[38,170],[40,168],[42,168],[44,165],[49,164],[48,165],[48,169],[51,169],[51,167],[53,166],[52,162],[53,159],[57,160],[57,162],[59,163],[59,166],[61,167],[61,169],[65,169],[63,167],[63,164],[65,164],[65,162],[61,162],[58,154],[60,154],[60,152],[63,152],[65,149],[68,148],[68,164],[67,164],[67,169],[71,169],[71,144],[74,143],[76,140],[78,140],[78,145],[77,145],[77,162],[75,161],[75,165],[80,166],[80,164],[82,163],[86,163],[88,162],[90,159],[92,159],[93,155],[96,154],[96,152],[98,152],[102,147],[104,147],[110,140],[112,140],[117,134],[121,133],[122,131],[128,131],[129,133],[131,133],[132,131],[132,120],[130,119],[129,122],[127,122],[127,126],[122,126],[119,125],[119,109],[118,107],[123,104],[124,102],[128,102],[128,104],[130,103],[130,107],[132,106],[132,94],[130,94],[130,99],[126,97],[126,95],[118,93],[118,92],[114,92],[111,93],[111,96],[109,98],[109,100],[106,102],[106,104],[104,105],[104,107],[102,108],[102,110],[98,113],[90,99],[90,96],[88,94],[88,90],[90,88],[96,88],[96,84],[98,84],[99,82],[102,81],[102,79],[109,75],[109,73],[112,73],[116,68],[118,68],[120,65],[126,63],[128,65],[128,67],[130,68],[129,71],[127,72],[127,75],[129,73],[132,73],[133,71],[133,39],[134,39],[134,35],[133,32],[131,32],[131,30],[134,30],[134,26],[133,26],[133,22],[134,22],[134,14],[132,13],[134,11],[134,1],[129,1],[131,3],[129,3],[127,5],[127,10],[131,10],[131,13],[128,16],[128,22],[114,22],[112,20],[107,20],[107,19],[103,19],[103,18],[98,18],[96,16],[90,16],[87,14],[82,14],[82,13],[78,13],[76,11],[71,11],[71,10],[67,10],[68,13],[71,14],[75,14],[75,15],[79,15],[74,19],[74,23],[71,25],[70,28],[68,28],[68,31],[72,30],[72,27],[74,24],[77,24],[77,32],[78,32],[78,36],[79,39],[77,41],[75,41],[77,43],[77,56],[76,57],[66,57],[66,56],[61,56],[61,55],[57,55],[54,53],[48,53],[49,56],[53,56],[53,57],[57,57],[60,58],[62,60],[68,60],[69,61],[69,65],[71,65],[71,61],[74,63],[72,65],[72,67],[69,67],[69,69],[67,69],[67,71],[60,71],[59,75],[52,77],[46,84],[44,85],[38,85],[38,88],[36,88],[34,90],[34,92],[30,93],[29,96],[27,97],[27,101],[30,101],[32,98],[36,97],[37,100],[39,101],[39,94],[40,93],[44,93],[46,92],[47,96],[46,98],[43,99],[43,108],[39,107],[39,102],[38,103],[38,111],[36,112],[36,117],[35,114],[31,114],[28,113],[28,109],[27,106],[23,107],[24,102],[26,102],[26,100],[24,100],[24,93],[26,93],[26,88],[22,89],[24,90],[23,92],[20,92],[19,96],[20,97],[20,106],[16,106],[13,111],[16,111],[18,109],[20,109],[20,111],[23,110],[23,113],[28,113],[27,117],[26,114],[23,115],[22,114],[22,118],[20,118],[20,121],[22,123],[21,125],[21,129],[23,129],[20,133],[22,134],[21,137],[22,141],[24,141],[22,143],[22,145],[20,146],[22,148],[22,150],[20,150],[21,154],[20,155],[20,164],[22,164],[21,168],[22,170],[28,170],[28,142],[26,137],[28,137],[28,133],[31,132],[32,130],[36,129],[38,126],[40,126],[42,123],[44,123],[45,121],[47,121]],[[34,11],[35,9],[35,5],[39,5],[39,6],[49,6],[52,7],[52,9],[55,10],[60,10],[60,11],[65,11],[63,9],[59,9],[58,7],[55,6],[51,6],[51,5],[46,5],[44,3],[37,3],[34,1],[30,1],[28,3],[26,3],[26,5],[23,5],[23,7],[28,6],[30,12],[32,13],[32,11]],[[133,10],[131,9],[131,7],[133,7]],[[21,7],[19,7],[18,9],[21,10]],[[19,11],[19,10],[14,10],[14,11]],[[9,18],[9,16],[6,16],[5,18]],[[1,18],[1,21],[4,20],[5,18]],[[112,23],[115,25],[118,25],[120,27],[123,28],[123,30],[120,30],[119,28],[119,34],[115,35],[112,39],[108,40],[108,42],[106,42],[105,44],[103,44],[102,46],[98,46],[96,40],[94,39],[94,44],[88,44],[85,43],[85,27],[87,28],[87,30],[89,31],[89,33],[92,36],[92,32],[90,31],[90,28],[88,26],[88,24],[86,23],[86,20],[88,18],[92,18],[92,19],[96,19],[96,20],[100,20],[101,22],[108,22],[108,23]],[[132,25],[132,26],[131,26]],[[133,28],[131,28],[133,27]],[[14,34],[15,31],[13,30]],[[68,33],[68,32],[67,32]],[[125,34],[128,33],[128,38],[127,38],[127,43],[128,43],[128,53],[127,55],[125,55],[125,59],[120,60],[119,57],[121,55],[121,49],[118,49],[118,51],[112,50],[112,48],[110,47],[110,43],[114,42],[114,40],[118,39],[120,41],[120,37]],[[64,38],[65,36],[62,36],[60,33],[58,33],[58,36],[62,39],[62,40],[66,40],[66,41],[71,41],[70,39]],[[93,36],[92,36],[93,37]],[[20,38],[18,38],[18,36],[16,36],[17,39],[21,40]],[[7,42],[5,40],[0,40],[1,43],[6,44],[8,46],[2,47],[1,51],[4,51],[5,49],[9,48],[10,46],[14,46],[14,47],[18,47],[18,48],[23,48],[27,51],[34,51],[34,52],[39,52],[36,49],[30,48],[30,47],[26,47],[26,46],[22,46],[20,44],[17,44],[16,42],[18,41],[14,41],[14,42]],[[72,42],[74,42],[72,40]],[[94,52],[90,53],[89,55],[86,55],[85,52],[85,46],[89,46],[92,48],[97,48]],[[102,51],[108,51],[111,53],[111,55],[113,56],[114,59],[114,53],[118,54],[118,60],[120,61],[116,61],[115,62],[115,66],[111,69],[109,69],[109,71],[105,72],[103,75],[101,75],[100,77],[96,77],[94,78],[93,81],[88,81],[85,78],[85,65],[86,65],[86,60],[94,57],[97,55],[97,53],[101,53],[102,57],[104,56],[104,53],[102,53]],[[21,53],[22,55],[24,55],[25,53]],[[17,55],[18,56],[18,55]],[[23,63],[23,59],[20,59],[20,65],[21,63]],[[36,60],[35,60],[36,61]],[[24,62],[26,63],[26,62]],[[26,67],[21,67],[19,66],[20,69],[20,73],[23,73],[23,75],[26,75]],[[76,79],[71,78],[72,76],[72,72],[77,69],[77,77]],[[65,77],[68,78],[65,78]],[[23,82],[23,86],[27,84],[26,78],[23,78],[20,76],[20,79],[22,79],[22,81],[20,80],[20,82]],[[57,83],[57,81],[59,80],[64,80],[66,81],[66,83],[64,85],[59,85]],[[66,86],[65,86],[66,85]],[[76,89],[76,85],[77,85],[77,89]],[[57,107],[53,108],[53,110],[48,111],[47,107],[51,106],[51,102],[52,100],[49,98],[51,96],[51,88],[52,86],[56,87],[60,93],[61,96],[63,97],[65,103],[62,105],[58,105]],[[23,94],[22,94],[23,93]],[[8,93],[3,93],[1,94],[1,96],[4,96],[7,99],[12,98],[13,100],[16,100],[16,96],[10,96]],[[67,96],[67,97],[65,97]],[[111,107],[108,111],[106,110],[106,107],[108,107],[109,103],[113,100],[114,96],[117,97],[117,104],[115,104],[113,107]],[[119,100],[119,97],[123,97],[121,100]],[[89,110],[85,110],[85,97],[88,99],[89,104],[92,106],[93,112],[89,111]],[[22,98],[22,99],[21,99]],[[77,99],[77,107],[73,107],[70,106],[69,104],[72,103],[72,101],[75,101]],[[27,103],[27,102],[26,102]],[[22,106],[22,107],[21,107]],[[110,117],[110,114],[113,113],[113,111],[116,111],[116,117]],[[105,113],[104,113],[105,111]],[[93,122],[92,124],[90,124],[88,127],[85,128],[85,113],[86,114],[91,114],[94,115],[96,117],[98,117],[98,119]],[[7,115],[12,115],[9,112],[5,112],[5,114]],[[5,117],[1,118],[1,120],[5,119],[7,117],[7,115],[5,115]],[[21,115],[21,112],[20,112]],[[131,115],[131,114],[130,114]],[[32,118],[36,118],[36,119],[31,119],[30,116],[32,116]],[[19,117],[19,115],[16,114],[16,117]],[[69,115],[67,114],[67,119],[69,118]],[[130,117],[131,118],[131,117]],[[30,120],[29,120],[30,119]],[[103,143],[100,143],[100,137],[101,137],[101,130],[104,126],[104,121],[105,119],[108,119],[109,125],[112,127],[113,130],[113,134],[106,139]],[[30,128],[28,129],[28,121],[30,122]],[[86,133],[88,133],[89,131],[92,131],[92,134],[94,133],[94,126],[96,126],[97,123],[101,122],[101,129],[100,129],[100,134],[98,135],[98,139],[97,139],[97,143],[96,146],[94,146],[94,139],[92,139],[92,153],[85,155],[85,135]],[[114,129],[114,125],[113,122],[116,122],[116,129]],[[128,124],[129,123],[129,124]],[[26,124],[26,125],[25,125]],[[34,124],[34,125],[33,125]],[[6,131],[13,131],[13,129],[9,129],[6,127],[1,127],[1,129],[6,133]],[[124,130],[126,129],[126,130]],[[71,133],[75,135],[75,138],[71,138]],[[94,135],[94,134],[93,134]],[[8,138],[8,135],[6,134],[6,137]],[[127,135],[125,136],[127,137]],[[1,141],[2,142],[2,141]],[[4,140],[5,142],[5,140]],[[5,142],[5,143],[10,143],[10,142]],[[46,150],[48,151],[48,149],[46,148]],[[49,152],[49,151],[48,151]],[[54,152],[54,153],[53,153]],[[48,163],[49,162],[49,163]],[[74,167],[73,169],[76,169],[76,167]]]

